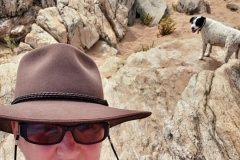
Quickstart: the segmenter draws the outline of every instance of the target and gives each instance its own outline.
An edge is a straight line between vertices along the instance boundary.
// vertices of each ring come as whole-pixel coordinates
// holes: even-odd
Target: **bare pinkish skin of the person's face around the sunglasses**
[[[18,132],[18,122],[12,122],[14,136]],[[63,140],[55,145],[36,145],[19,137],[18,146],[26,160],[100,160],[102,143],[82,145],[75,142],[71,132],[66,132]]]

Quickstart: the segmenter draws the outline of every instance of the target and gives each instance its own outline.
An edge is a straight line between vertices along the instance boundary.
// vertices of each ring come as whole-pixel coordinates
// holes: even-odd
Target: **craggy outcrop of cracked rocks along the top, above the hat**
[[[54,0],[0,0],[0,4],[0,41],[4,42],[4,38],[9,36],[13,41],[39,47],[39,44],[24,41],[28,34],[38,33],[39,28],[31,27],[36,23],[57,42],[69,43],[81,50],[90,49],[99,40],[117,49],[118,41],[126,34],[127,25],[130,21],[131,25],[134,24],[138,14],[149,14],[154,18],[150,25],[157,25],[167,8],[165,0],[58,0],[57,3]],[[41,41],[37,38],[42,36],[36,35],[35,38]]]

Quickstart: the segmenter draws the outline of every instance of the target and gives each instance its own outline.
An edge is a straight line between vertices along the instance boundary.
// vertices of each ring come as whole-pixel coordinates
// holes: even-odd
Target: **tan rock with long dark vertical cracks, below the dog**
[[[239,159],[240,62],[194,75],[164,125],[167,150],[177,158]],[[237,140],[237,141],[236,141]],[[215,149],[213,149],[215,148]]]

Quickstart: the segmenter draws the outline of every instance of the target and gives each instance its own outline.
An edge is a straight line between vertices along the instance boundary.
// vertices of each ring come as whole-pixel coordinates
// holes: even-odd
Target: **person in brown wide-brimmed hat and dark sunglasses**
[[[14,134],[15,159],[19,146],[26,160],[99,160],[102,141],[112,145],[111,127],[150,115],[108,106],[94,61],[57,43],[21,59],[15,99],[0,106],[0,131]]]

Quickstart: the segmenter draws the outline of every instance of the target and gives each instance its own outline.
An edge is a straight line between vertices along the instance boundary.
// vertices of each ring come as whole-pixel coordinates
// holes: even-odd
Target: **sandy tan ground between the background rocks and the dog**
[[[229,2],[234,2],[240,6],[240,0],[208,0],[208,2],[211,7],[211,14],[203,13],[199,15],[212,18],[232,27],[237,25],[240,26],[240,9],[237,12],[233,12],[226,8],[226,4]],[[172,3],[174,3],[174,0],[167,0],[167,3],[171,9],[171,17],[177,23],[176,30],[170,35],[158,37],[157,35],[159,30],[157,26],[144,26],[139,20],[136,20],[134,26],[128,28],[127,34],[118,44],[121,52],[121,54],[118,55],[119,57],[126,59],[130,54],[140,51],[143,46],[151,46],[152,43],[154,43],[154,46],[158,46],[162,43],[176,40],[176,38],[179,40],[190,39],[193,37],[201,38],[200,34],[192,33],[190,30],[189,20],[192,15],[186,15],[173,11]],[[89,53],[97,52],[97,49],[97,47],[93,47]],[[198,57],[198,55],[196,55],[196,57]],[[96,56],[93,56],[93,58],[97,61],[97,63],[101,63],[101,61],[104,60],[103,58]]]

